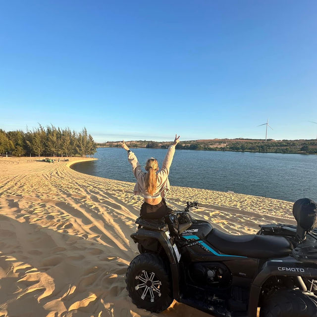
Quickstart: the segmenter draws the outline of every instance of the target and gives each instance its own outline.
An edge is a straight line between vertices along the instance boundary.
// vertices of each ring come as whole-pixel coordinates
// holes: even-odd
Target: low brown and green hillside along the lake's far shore
[[[120,141],[97,143],[97,147],[121,147]],[[167,148],[171,142],[157,141],[126,141],[130,148]],[[208,151],[239,151],[268,153],[299,153],[317,154],[317,140],[272,140],[268,139],[209,139],[181,141],[176,149],[208,150]]]

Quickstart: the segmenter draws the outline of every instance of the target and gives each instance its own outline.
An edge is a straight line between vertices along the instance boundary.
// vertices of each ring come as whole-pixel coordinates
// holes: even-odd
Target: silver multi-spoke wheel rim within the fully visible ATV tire
[[[135,290],[142,300],[154,303],[161,296],[161,285],[158,276],[148,270],[142,270],[135,276]]]

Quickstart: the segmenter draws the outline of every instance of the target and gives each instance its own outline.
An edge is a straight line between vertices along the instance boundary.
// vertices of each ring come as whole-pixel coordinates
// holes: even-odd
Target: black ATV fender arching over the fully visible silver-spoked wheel
[[[173,285],[174,299],[179,301],[179,264],[175,250],[164,231],[153,231],[140,228],[136,233],[131,234],[135,243],[140,243],[150,251],[157,252],[159,245],[162,246],[169,261],[169,267]]]

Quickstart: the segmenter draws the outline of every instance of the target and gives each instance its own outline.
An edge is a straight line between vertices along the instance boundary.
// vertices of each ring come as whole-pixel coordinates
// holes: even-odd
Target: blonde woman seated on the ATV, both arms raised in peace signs
[[[168,147],[167,154],[163,160],[162,168],[159,171],[158,161],[154,158],[148,159],[145,165],[146,172],[141,170],[135,154],[127,147],[124,141],[120,142],[122,148],[128,152],[128,161],[132,165],[132,171],[137,179],[133,194],[144,198],[140,214],[145,219],[159,219],[172,211],[166,206],[164,197],[169,191],[168,180],[169,167],[175,153],[175,146],[179,142],[180,136],[175,136],[172,145]]]

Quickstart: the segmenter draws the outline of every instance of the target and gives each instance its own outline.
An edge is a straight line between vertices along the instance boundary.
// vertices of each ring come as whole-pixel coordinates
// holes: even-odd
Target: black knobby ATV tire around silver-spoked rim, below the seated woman
[[[153,276],[153,282],[156,282],[156,289],[153,290],[154,286],[151,286],[152,293],[150,293],[151,288],[149,287],[145,298],[142,299],[141,297],[144,296],[144,292],[146,292],[146,286],[142,285],[151,284],[149,281],[147,282],[149,284],[144,283],[143,279],[146,277],[150,279],[151,276]],[[157,254],[143,253],[134,258],[128,267],[125,282],[132,302],[139,308],[160,313],[167,309],[173,302],[169,270],[167,265]],[[136,289],[139,285],[143,288],[140,287]],[[152,285],[154,285],[154,283]],[[153,301],[151,301],[152,299]]]

